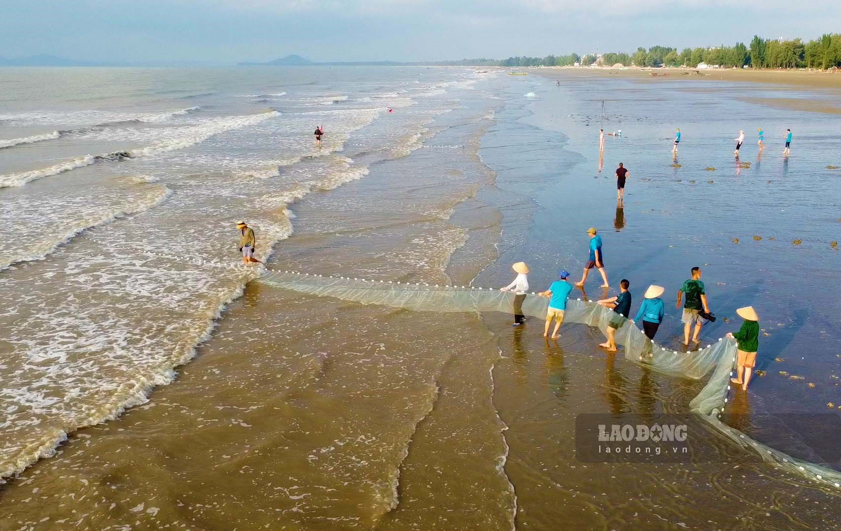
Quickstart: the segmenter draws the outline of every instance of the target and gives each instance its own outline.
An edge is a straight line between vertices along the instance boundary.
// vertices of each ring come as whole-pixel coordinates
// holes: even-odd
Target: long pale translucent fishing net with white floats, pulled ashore
[[[512,292],[483,287],[430,285],[421,282],[372,281],[343,276],[320,276],[297,271],[276,271],[260,278],[274,287],[319,297],[334,297],[343,301],[376,304],[391,308],[406,308],[426,312],[501,312],[514,313]],[[520,312],[534,318],[546,317],[549,300],[535,293],[526,294]],[[564,323],[579,323],[597,327],[606,334],[608,323],[616,317],[609,308],[595,302],[569,299]],[[735,443],[758,452],[762,458],[786,470],[807,476],[831,486],[841,486],[841,472],[831,468],[797,460],[773,450],[719,419],[727,405],[731,391],[730,378],[736,362],[736,342],[722,338],[701,350],[679,352],[667,350],[650,341],[643,332],[627,320],[616,330],[616,344],[624,347],[627,360],[643,363],[654,371],[670,376],[701,379],[712,376],[701,392],[690,402],[690,410]]]

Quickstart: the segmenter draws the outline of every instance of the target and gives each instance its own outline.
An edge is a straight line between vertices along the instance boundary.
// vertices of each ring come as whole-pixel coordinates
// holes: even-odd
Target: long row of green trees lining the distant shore
[[[578,54],[547,55],[546,57],[509,57],[505,60],[476,59],[447,61],[446,64],[469,66],[573,66],[579,63],[590,66],[596,55]],[[733,46],[711,48],[677,48],[652,46],[648,50],[637,48],[632,54],[609,52],[601,57],[601,64],[613,66],[616,63],[633,66],[690,66],[700,63],[710,66],[754,68],[814,68],[825,70],[833,66],[841,68],[841,34],[824,34],[806,44],[802,39],[776,40],[754,36],[750,45],[736,43]]]

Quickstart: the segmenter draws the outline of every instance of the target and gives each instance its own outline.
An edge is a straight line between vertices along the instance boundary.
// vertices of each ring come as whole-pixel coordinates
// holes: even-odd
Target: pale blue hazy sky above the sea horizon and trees
[[[3,0],[0,55],[232,64],[504,59],[841,31],[838,0]]]

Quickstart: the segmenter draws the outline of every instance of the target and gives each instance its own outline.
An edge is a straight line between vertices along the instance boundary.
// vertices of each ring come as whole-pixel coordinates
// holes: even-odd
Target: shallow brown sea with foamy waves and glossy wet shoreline
[[[721,455],[712,463],[576,460],[576,414],[687,411],[703,385],[606,356],[598,332],[565,326],[547,344],[542,323],[512,330],[497,314],[306,297],[246,285],[253,269],[196,261],[235,262],[230,228],[246,218],[258,255],[275,244],[272,268],[501,286],[510,263],[526,260],[537,291],[561,267],[579,273],[584,229],[595,225],[605,228],[612,283],[632,280],[634,310],[649,282],[672,300],[694,265],[720,317],[759,308],[769,335],[758,368],[767,375],[736,410],[823,413],[826,402],[841,404],[829,334],[838,301],[820,285],[839,265],[829,247],[837,194],[824,168],[841,131],[830,115],[735,102],[730,93],[743,87],[715,83],[696,93],[580,78],[558,89],[462,69],[138,70],[109,78],[113,92],[95,101],[18,100],[15,119],[25,126],[11,125],[14,113],[0,122],[0,138],[23,138],[13,128],[66,127],[45,111],[99,126],[158,120],[182,99],[200,107],[0,150],[8,176],[61,162],[47,160],[52,154],[183,145],[0,190],[14,207],[3,208],[0,229],[11,263],[0,289],[13,301],[0,315],[9,330],[0,344],[0,457],[26,455],[34,441],[51,449],[62,430],[145,402],[147,386],[171,381],[172,367],[206,342],[148,402],[78,430],[58,455],[4,485],[4,526],[831,528],[838,520],[837,492],[755,462],[712,431],[705,443]],[[59,71],[13,72],[25,83]],[[607,139],[599,172],[603,99],[606,129],[623,136]],[[264,116],[272,109],[279,114]],[[746,142],[742,160],[754,164],[737,175],[727,134],[746,129],[749,139],[757,113],[766,138],[792,127],[795,150],[786,162],[769,147],[758,164]],[[49,126],[37,129],[42,115]],[[243,119],[235,129],[214,125]],[[657,140],[675,119],[680,167],[670,141]],[[309,137],[315,121],[327,131],[320,149]],[[621,213],[619,160],[631,171]],[[86,202],[80,189],[99,200]],[[27,255],[16,242],[29,232],[38,247]],[[601,297],[598,283],[591,278],[583,296]],[[667,313],[658,339],[677,348],[674,304]],[[706,341],[738,326],[722,321],[705,328]],[[762,423],[751,429],[762,440]]]

